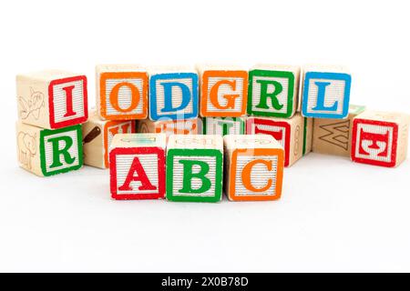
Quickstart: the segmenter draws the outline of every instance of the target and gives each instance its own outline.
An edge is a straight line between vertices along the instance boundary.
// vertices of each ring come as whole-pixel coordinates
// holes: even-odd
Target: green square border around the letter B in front
[[[174,196],[172,193],[174,176],[174,156],[216,156],[215,196]],[[167,153],[167,200],[178,202],[220,202],[222,197],[223,156],[217,149],[171,148]]]

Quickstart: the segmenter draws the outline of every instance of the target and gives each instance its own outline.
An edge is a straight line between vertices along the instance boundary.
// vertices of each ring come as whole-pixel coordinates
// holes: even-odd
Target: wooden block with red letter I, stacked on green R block
[[[27,125],[56,129],[87,121],[87,77],[46,70],[17,75],[18,118]]]

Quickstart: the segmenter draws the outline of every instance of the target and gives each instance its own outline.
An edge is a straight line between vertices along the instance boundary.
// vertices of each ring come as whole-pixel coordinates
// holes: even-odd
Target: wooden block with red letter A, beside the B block
[[[111,196],[117,200],[165,196],[165,135],[114,135],[109,151]]]

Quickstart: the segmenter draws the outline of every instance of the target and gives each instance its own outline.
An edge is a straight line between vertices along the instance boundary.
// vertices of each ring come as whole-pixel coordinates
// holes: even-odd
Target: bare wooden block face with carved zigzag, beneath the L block
[[[314,153],[350,156],[352,148],[352,121],[355,116],[364,112],[365,107],[349,106],[349,115],[346,119],[313,119],[313,146]]]

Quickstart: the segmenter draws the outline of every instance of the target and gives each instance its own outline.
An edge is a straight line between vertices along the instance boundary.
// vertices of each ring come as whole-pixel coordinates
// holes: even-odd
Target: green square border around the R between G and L
[[[286,113],[279,112],[261,112],[252,110],[252,83],[253,76],[273,76],[273,77],[285,77],[289,79],[288,86],[288,106]],[[268,70],[251,70],[249,72],[249,85],[248,85],[248,115],[253,116],[270,116],[270,117],[292,117],[293,95],[294,95],[294,75],[292,72],[286,71],[268,71]]]

